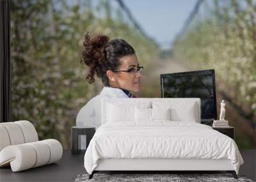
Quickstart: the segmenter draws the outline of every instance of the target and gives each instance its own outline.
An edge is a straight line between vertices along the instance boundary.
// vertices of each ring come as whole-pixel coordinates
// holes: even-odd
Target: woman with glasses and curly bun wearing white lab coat
[[[84,36],[83,62],[89,67],[86,80],[92,84],[97,77],[104,87],[99,95],[93,97],[77,114],[77,126],[101,125],[102,98],[134,98],[131,91],[140,91],[141,70],[136,52],[122,39],[109,41],[108,36],[90,38]]]

